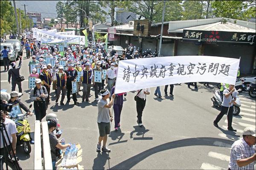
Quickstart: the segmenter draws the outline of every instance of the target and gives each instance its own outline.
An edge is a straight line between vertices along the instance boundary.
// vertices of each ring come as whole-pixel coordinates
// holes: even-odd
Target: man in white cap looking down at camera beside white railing
[[[47,89],[42,85],[41,79],[35,79],[35,88],[31,89],[29,98],[34,101],[35,119],[40,122],[46,115],[45,99],[47,97]]]

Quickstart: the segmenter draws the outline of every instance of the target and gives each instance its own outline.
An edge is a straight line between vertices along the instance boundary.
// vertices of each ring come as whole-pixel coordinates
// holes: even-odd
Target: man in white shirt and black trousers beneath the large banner
[[[150,94],[150,88],[143,88],[142,90],[137,90],[137,100],[136,100],[136,109],[137,109],[137,123],[141,127],[142,124],[142,112],[146,105],[146,95]]]

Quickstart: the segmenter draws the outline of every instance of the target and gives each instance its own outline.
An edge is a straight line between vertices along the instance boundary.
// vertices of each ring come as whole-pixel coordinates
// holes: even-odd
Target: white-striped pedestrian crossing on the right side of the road
[[[252,102],[251,99],[247,98],[240,98],[241,99],[241,112],[239,116],[233,116],[233,122],[232,126],[237,131],[234,132],[235,135],[229,135],[223,132],[218,133],[218,137],[221,139],[231,139],[234,142],[238,139],[242,138],[242,133],[245,127],[253,127],[256,128],[256,113],[255,113],[255,101]],[[227,130],[227,118],[223,117],[225,121],[220,121],[219,124],[222,124],[220,127],[223,130]],[[232,133],[231,133],[232,134]],[[215,141],[213,143],[214,146],[226,148],[226,150],[221,149],[222,153],[218,153],[216,151],[210,150],[207,154],[208,158],[211,158],[209,160],[216,160],[215,162],[220,162],[220,164],[212,164],[212,162],[203,162],[201,164],[202,170],[227,170],[228,164],[230,161],[230,150],[231,150],[231,144],[227,144],[220,141]],[[227,149],[228,148],[228,149]],[[226,152],[226,153],[224,153]],[[218,160],[218,161],[217,161]],[[224,165],[223,165],[223,161]],[[220,167],[223,166],[223,167]]]

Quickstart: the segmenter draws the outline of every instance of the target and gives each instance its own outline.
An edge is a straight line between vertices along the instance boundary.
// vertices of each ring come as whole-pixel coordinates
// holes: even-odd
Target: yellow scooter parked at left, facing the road
[[[32,105],[29,105],[31,108]],[[25,116],[28,114],[18,114],[16,117],[11,117],[11,119],[15,122],[17,128],[17,144],[23,146],[23,150],[25,153],[31,153],[31,145],[30,145],[30,137],[29,133],[31,132],[29,122],[25,119]]]

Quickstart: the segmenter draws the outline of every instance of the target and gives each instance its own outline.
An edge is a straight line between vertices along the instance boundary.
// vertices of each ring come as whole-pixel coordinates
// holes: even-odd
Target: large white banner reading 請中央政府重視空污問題
[[[119,61],[115,93],[185,82],[235,85],[240,59],[175,56]]]

